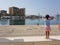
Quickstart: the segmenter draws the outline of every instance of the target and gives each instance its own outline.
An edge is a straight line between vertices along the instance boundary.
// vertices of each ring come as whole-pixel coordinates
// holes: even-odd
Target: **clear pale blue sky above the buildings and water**
[[[60,14],[60,0],[0,0],[0,10],[9,7],[26,8],[26,15],[56,15]]]

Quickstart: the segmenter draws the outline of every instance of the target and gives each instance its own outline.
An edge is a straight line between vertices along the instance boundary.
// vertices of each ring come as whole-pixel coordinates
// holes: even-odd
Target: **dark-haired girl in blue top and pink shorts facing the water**
[[[49,39],[49,35],[50,35],[50,31],[51,31],[51,28],[50,28],[50,20],[51,19],[52,18],[49,15],[45,16],[45,33],[46,33],[46,39]]]

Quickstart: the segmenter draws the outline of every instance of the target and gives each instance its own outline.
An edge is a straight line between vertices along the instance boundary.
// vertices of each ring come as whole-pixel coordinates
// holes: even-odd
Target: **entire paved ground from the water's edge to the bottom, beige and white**
[[[0,45],[60,45],[60,30],[51,25],[50,39],[45,39],[43,25],[0,26]]]

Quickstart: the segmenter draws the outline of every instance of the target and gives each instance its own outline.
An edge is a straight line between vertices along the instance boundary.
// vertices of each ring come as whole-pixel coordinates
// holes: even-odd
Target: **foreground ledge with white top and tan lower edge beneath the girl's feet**
[[[0,45],[60,45],[60,36],[0,37]]]

